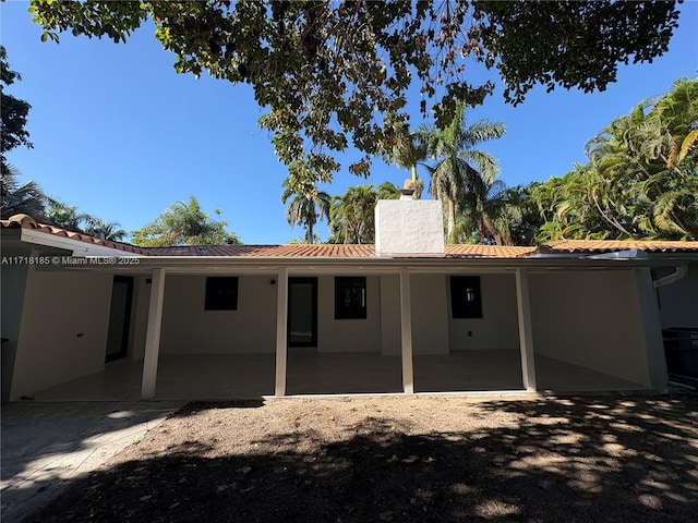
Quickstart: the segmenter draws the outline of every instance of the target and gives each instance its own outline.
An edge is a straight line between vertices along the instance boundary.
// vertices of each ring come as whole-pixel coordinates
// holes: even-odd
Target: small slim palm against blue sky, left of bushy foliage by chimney
[[[287,178],[281,184],[281,203],[288,202],[286,220],[288,224],[305,228],[305,241],[315,242],[313,229],[318,219],[329,216],[329,203],[332,196],[318,191],[312,181],[303,181],[297,177]],[[290,202],[289,202],[290,200]]]

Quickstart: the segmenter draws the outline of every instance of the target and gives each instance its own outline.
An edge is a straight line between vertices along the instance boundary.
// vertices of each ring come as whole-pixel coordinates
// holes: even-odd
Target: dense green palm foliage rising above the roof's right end
[[[538,241],[698,239],[698,78],[615,119],[587,144],[589,163],[531,191]]]

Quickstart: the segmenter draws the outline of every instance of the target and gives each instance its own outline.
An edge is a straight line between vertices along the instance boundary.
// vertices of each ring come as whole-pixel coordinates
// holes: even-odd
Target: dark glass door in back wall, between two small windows
[[[288,346],[317,346],[317,278],[288,279]]]

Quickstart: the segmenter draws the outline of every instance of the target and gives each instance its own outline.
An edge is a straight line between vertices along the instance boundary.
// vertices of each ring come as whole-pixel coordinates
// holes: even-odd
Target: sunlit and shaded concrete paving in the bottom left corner
[[[25,401],[2,405],[0,521],[22,521],[184,403]]]

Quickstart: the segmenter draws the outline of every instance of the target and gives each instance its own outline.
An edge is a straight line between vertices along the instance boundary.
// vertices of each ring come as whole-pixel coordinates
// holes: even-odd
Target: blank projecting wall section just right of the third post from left
[[[448,292],[443,275],[412,275],[412,353],[448,354]]]

